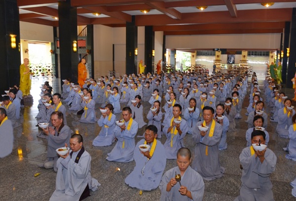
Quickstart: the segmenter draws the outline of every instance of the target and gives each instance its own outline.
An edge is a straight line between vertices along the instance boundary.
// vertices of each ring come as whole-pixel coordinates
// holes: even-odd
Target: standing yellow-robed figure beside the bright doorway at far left
[[[30,94],[30,68],[29,59],[25,58],[24,63],[20,65],[20,90],[24,96]]]

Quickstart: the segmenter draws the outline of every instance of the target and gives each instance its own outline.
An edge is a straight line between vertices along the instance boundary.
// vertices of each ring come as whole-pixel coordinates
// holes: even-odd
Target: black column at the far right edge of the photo
[[[286,87],[292,88],[293,83],[291,81],[295,76],[296,71],[296,8],[292,11],[292,21],[291,21],[291,34],[290,34],[290,56],[288,58],[288,70],[287,70],[287,80]]]

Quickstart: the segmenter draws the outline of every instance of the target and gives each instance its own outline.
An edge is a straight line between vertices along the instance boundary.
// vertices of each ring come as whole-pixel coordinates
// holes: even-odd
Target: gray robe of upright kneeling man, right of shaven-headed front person
[[[221,178],[225,168],[220,165],[218,145],[222,136],[222,126],[216,122],[215,130],[212,137],[209,137],[212,122],[208,125],[209,129],[204,137],[200,135],[197,126],[203,121],[196,123],[192,132],[192,139],[196,143],[194,149],[194,160],[192,168],[195,169],[204,180],[211,181]],[[206,150],[208,155],[206,155]]]

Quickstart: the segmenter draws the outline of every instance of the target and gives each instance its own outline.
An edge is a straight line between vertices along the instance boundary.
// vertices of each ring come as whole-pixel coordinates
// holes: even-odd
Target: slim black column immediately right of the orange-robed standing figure
[[[88,69],[89,76],[92,78],[95,77],[95,70],[94,70],[94,57],[93,57],[93,50],[94,50],[94,25],[88,24],[86,26],[87,34],[86,34],[86,49],[90,51],[90,54],[87,55],[87,64],[90,64],[91,69]]]

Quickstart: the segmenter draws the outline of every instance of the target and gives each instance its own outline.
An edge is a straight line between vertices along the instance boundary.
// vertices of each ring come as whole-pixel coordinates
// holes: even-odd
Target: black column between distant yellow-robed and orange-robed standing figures
[[[154,32],[152,26],[145,27],[145,64],[146,73],[154,73],[154,57],[152,50],[154,49]]]

